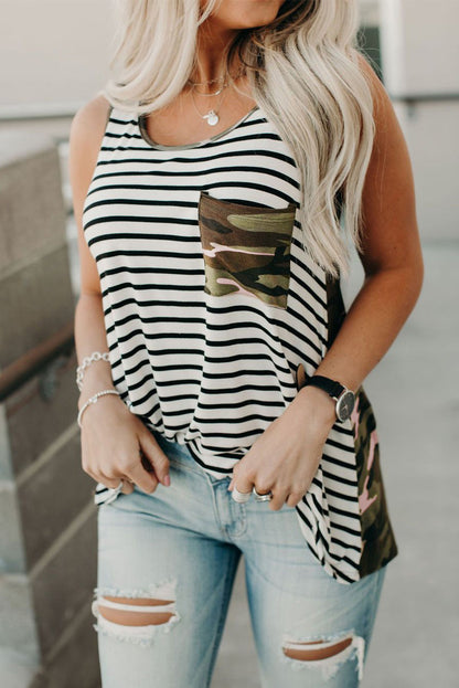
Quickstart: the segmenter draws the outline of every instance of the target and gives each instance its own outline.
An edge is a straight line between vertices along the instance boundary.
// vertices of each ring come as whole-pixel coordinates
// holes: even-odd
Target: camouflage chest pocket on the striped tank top
[[[201,191],[198,207],[205,264],[204,290],[253,295],[287,308],[296,203],[266,208],[215,199]]]

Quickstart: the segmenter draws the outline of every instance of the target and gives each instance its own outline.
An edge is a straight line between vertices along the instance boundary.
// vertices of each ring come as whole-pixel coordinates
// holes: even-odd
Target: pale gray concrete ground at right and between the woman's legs
[[[399,553],[387,569],[362,688],[455,688],[459,663],[459,242],[424,244],[425,282],[364,387],[378,422]],[[360,266],[344,289],[349,303]],[[239,567],[212,688],[259,688]]]

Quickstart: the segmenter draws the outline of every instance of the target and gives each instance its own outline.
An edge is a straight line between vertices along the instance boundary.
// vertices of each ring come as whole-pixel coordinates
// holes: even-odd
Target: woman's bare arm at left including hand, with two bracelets
[[[75,308],[78,363],[93,351],[107,351],[100,281],[83,231],[83,208],[104,137],[109,105],[98,96],[76,114],[70,138],[70,177],[78,232],[81,296]],[[115,389],[108,361],[92,363],[84,373],[78,409],[95,392]],[[116,487],[120,477],[132,479],[151,494],[158,481],[169,485],[169,459],[141,420],[116,395],[89,405],[82,420],[82,466],[96,481]],[[141,463],[142,451],[152,466]]]

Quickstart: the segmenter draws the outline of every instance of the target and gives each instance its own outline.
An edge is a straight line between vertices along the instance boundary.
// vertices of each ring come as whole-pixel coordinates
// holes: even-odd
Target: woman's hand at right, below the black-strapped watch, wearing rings
[[[234,466],[228,489],[273,491],[269,508],[295,507],[308,491],[335,423],[334,402],[322,390],[301,388],[293,401]]]

